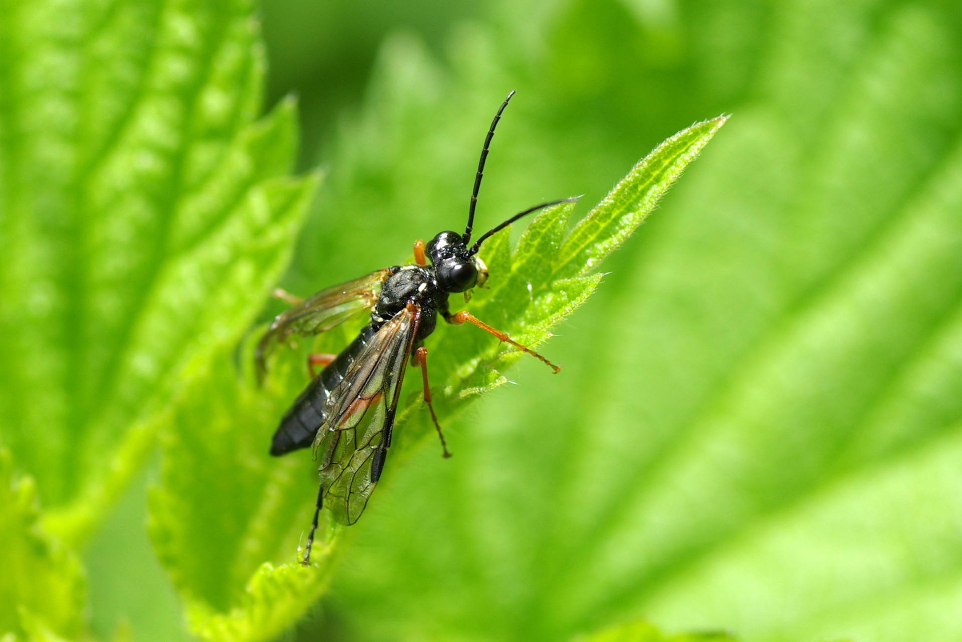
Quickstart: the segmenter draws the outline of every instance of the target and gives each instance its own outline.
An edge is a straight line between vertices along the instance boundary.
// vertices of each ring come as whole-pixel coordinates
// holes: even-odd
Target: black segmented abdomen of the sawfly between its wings
[[[314,443],[317,429],[324,423],[324,407],[331,392],[344,380],[348,368],[361,354],[367,341],[376,331],[367,325],[340,355],[309,383],[281,419],[270,443],[270,454],[277,457],[291,451],[307,448]]]

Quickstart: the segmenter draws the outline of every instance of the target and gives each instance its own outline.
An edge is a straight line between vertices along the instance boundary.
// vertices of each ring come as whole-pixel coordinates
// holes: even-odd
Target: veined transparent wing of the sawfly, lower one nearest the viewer
[[[328,399],[328,419],[317,431],[314,449],[324,506],[342,524],[358,520],[381,476],[419,323],[417,305],[398,312],[374,334]]]

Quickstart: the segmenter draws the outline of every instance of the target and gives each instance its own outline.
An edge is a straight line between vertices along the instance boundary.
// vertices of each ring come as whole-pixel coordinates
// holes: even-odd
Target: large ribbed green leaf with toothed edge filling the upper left
[[[250,0],[0,7],[0,439],[80,541],[191,364],[236,340],[314,179]]]

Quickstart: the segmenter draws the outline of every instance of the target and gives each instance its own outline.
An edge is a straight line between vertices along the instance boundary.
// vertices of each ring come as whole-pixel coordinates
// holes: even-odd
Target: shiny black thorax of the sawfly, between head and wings
[[[381,285],[377,305],[371,310],[371,321],[381,326],[404,309],[417,303],[421,309],[418,340],[434,332],[438,310],[447,303],[447,293],[435,282],[434,269],[419,265],[403,265]]]

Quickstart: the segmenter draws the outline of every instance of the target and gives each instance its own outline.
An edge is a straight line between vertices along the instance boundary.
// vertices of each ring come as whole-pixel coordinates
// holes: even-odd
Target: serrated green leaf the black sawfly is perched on
[[[722,122],[696,125],[697,136],[686,138],[689,147],[703,146]],[[650,166],[651,160],[647,162]],[[677,163],[674,175],[681,168]],[[633,189],[636,183],[649,187]],[[650,191],[661,185],[646,172],[635,171],[620,186],[633,195],[616,207],[604,205],[603,211],[610,212],[611,220],[623,221],[641,204],[653,205]],[[584,303],[600,275],[558,279],[552,269],[573,208],[569,203],[544,210],[521,235],[514,253],[508,230],[483,246],[492,269],[490,287],[475,294],[469,309],[519,341],[536,345]],[[595,227],[596,238],[617,234]],[[586,246],[585,256],[592,251]],[[577,273],[588,271],[575,261],[568,264]],[[314,347],[339,351],[352,329],[357,331],[326,333]],[[437,385],[439,416],[446,421],[479,392],[504,383],[501,373],[521,353],[472,327],[439,329],[438,336],[431,340],[429,371]],[[310,524],[316,497],[316,463],[308,451],[282,458],[267,455],[279,418],[308,383],[303,358],[311,341],[305,343],[309,345],[297,351],[278,351],[266,389],[253,381],[250,342],[241,350],[241,373],[223,355],[165,417],[164,471],[161,486],[151,494],[151,533],[158,556],[187,603],[190,628],[203,639],[270,639],[291,627],[330,580],[331,559],[339,548],[339,528],[333,524],[322,525],[313,566],[297,563],[298,542]],[[395,423],[392,464],[380,485],[390,485],[396,464],[434,431],[426,419],[419,378],[408,379],[409,393]],[[380,492],[378,488],[370,506],[376,505]],[[329,520],[327,511],[323,515]]]

